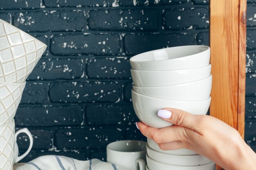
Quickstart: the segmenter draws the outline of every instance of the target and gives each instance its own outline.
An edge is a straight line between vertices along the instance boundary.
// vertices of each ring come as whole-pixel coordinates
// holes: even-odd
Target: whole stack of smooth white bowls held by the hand
[[[162,108],[206,115],[211,102],[209,46],[177,46],[135,55],[130,59],[132,104],[139,120],[153,128],[173,124],[157,116]],[[216,164],[188,149],[161,150],[147,144],[148,170],[214,170]]]

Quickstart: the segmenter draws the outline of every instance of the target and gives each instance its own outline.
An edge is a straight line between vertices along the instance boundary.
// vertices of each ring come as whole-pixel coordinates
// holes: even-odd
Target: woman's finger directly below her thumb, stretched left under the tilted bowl
[[[156,129],[148,127],[141,122],[138,122],[137,125],[144,136],[152,139],[157,144],[172,141],[186,141],[188,139],[185,128],[181,126],[173,125],[162,129]]]

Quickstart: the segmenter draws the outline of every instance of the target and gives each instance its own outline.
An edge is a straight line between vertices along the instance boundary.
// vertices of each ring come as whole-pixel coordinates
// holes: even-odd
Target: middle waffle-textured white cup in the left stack
[[[0,82],[0,125],[13,120],[25,85]]]

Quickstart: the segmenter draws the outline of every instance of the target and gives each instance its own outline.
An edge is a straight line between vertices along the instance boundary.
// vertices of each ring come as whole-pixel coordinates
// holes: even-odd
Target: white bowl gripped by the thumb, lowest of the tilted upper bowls
[[[173,124],[157,116],[162,108],[177,108],[194,115],[206,115],[211,97],[206,100],[182,101],[168,100],[141,95],[132,90],[132,105],[139,120],[153,128],[164,128]]]

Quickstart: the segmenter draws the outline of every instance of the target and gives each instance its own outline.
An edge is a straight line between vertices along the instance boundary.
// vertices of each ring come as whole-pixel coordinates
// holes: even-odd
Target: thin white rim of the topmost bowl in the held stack
[[[209,46],[205,46],[205,45],[186,45],[186,46],[173,46],[173,47],[168,47],[168,48],[163,48],[163,49],[156,49],[156,50],[152,50],[152,51],[146,51],[144,53],[139,53],[137,55],[134,55],[133,57],[130,58],[130,62],[138,62],[138,63],[143,63],[143,62],[161,62],[161,61],[166,61],[166,60],[177,60],[177,59],[180,59],[180,58],[186,58],[186,57],[193,57],[194,55],[198,55],[200,53],[196,53],[196,54],[193,54],[193,55],[186,55],[184,57],[178,57],[178,58],[173,58],[173,59],[166,59],[166,60],[157,60],[157,61],[134,61],[134,58],[138,57],[139,55],[143,55],[143,54],[146,54],[146,53],[152,53],[152,52],[155,52],[155,51],[161,51],[161,50],[168,50],[168,49],[174,49],[174,48],[182,48],[182,47],[189,47],[189,46],[195,46],[195,47],[206,47],[206,50],[205,51],[201,51],[200,53],[205,53],[207,51],[209,51],[211,48]]]

